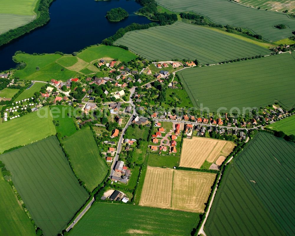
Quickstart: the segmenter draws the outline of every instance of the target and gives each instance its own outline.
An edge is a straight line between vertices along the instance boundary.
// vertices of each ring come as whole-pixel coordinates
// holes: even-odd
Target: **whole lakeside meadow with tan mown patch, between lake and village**
[[[24,80],[37,80],[49,82],[50,79],[66,81],[81,74],[97,72],[96,66],[90,64],[100,58],[108,60],[130,61],[137,56],[119,47],[106,45],[91,46],[86,48],[77,57],[71,55],[61,56],[59,54],[30,55],[17,54],[17,61],[24,61],[27,66],[17,70],[15,76]],[[36,67],[39,70],[36,70]]]

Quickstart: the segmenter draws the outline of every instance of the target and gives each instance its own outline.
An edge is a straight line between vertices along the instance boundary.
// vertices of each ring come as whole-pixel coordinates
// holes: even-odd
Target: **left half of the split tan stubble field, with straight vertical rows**
[[[139,205],[170,208],[172,183],[173,169],[148,166]]]

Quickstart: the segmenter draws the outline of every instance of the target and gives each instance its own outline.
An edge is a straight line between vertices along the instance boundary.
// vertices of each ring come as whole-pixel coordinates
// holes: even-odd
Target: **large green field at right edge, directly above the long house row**
[[[264,107],[274,101],[294,105],[295,59],[289,53],[217,66],[186,69],[178,73],[196,107]],[[233,110],[235,111],[235,109]],[[247,112],[247,111],[246,111]]]

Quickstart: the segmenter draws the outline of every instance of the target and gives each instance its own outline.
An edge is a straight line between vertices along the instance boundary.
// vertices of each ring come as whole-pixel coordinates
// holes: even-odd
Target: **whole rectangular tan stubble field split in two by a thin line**
[[[215,176],[148,166],[139,205],[203,212]]]

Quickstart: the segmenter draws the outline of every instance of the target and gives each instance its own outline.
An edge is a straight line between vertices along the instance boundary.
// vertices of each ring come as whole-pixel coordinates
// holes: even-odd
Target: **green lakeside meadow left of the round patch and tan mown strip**
[[[24,61],[27,66],[22,70],[17,70],[14,76],[25,80],[50,81],[50,79],[56,79],[66,81],[74,77],[76,72],[65,69],[55,62],[61,57],[59,54],[17,54],[15,56],[17,61]],[[38,71],[36,70],[37,66],[40,68]],[[64,71],[61,71],[63,68]]]

